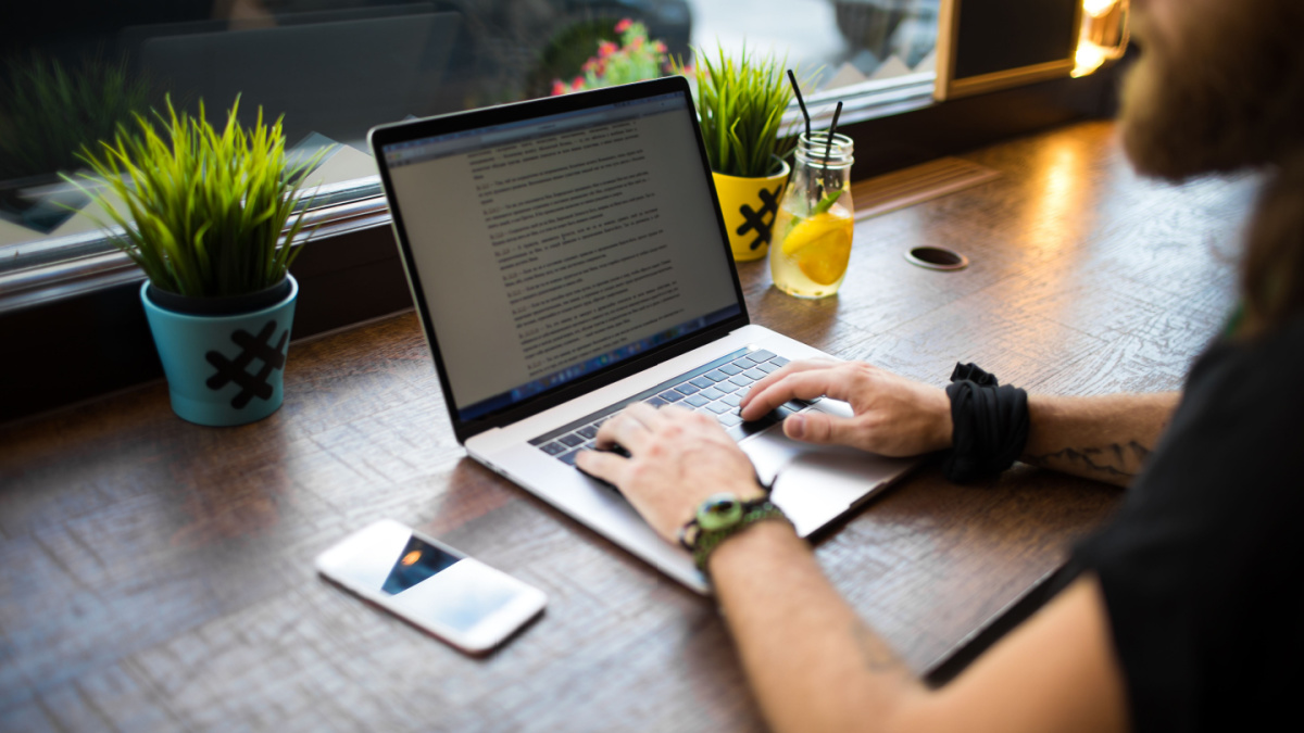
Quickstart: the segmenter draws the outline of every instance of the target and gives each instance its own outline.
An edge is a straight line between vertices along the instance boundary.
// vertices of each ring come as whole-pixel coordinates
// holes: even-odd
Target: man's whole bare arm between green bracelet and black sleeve
[[[1104,601],[1080,578],[940,690],[928,690],[819,571],[792,528],[767,522],[711,557],[716,593],[771,728],[1123,730],[1123,676]]]

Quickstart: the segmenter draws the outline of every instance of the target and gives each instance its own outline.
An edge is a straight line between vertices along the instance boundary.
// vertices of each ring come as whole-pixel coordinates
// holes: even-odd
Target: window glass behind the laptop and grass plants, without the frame
[[[376,124],[542,97],[605,70],[639,23],[634,77],[719,43],[775,52],[837,98],[932,69],[939,0],[53,0],[0,10],[0,278],[103,252],[94,209],[59,177],[83,143],[163,103],[284,115],[317,206],[379,193]],[[16,5],[21,5],[21,9]],[[20,17],[21,16],[21,17]],[[651,69],[651,70],[648,70]],[[595,77],[599,74],[593,74]],[[591,80],[593,81],[593,80]],[[596,80],[632,81],[622,78]],[[0,280],[3,282],[3,280]]]

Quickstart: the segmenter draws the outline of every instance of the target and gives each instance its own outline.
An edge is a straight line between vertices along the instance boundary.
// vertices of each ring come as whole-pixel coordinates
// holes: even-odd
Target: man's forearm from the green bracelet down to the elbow
[[[775,730],[883,729],[923,686],[777,522],[711,558],[716,593],[756,699]]]

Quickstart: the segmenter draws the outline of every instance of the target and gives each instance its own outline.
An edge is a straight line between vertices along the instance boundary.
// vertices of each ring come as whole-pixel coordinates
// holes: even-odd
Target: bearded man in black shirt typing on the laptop
[[[1028,398],[1024,460],[1134,485],[1076,549],[1076,579],[943,689],[893,657],[786,523],[748,523],[702,553],[775,729],[1254,729],[1294,712],[1300,676],[1274,661],[1304,652],[1304,597],[1287,575],[1304,562],[1292,464],[1304,453],[1304,3],[1133,0],[1132,13],[1144,53],[1121,129],[1137,170],[1179,181],[1271,168],[1243,316],[1181,395]],[[865,364],[794,363],[742,415],[822,394],[855,416],[793,416],[790,437],[887,455],[952,445],[947,393]],[[599,433],[612,443],[630,458],[591,451],[580,468],[618,485],[668,541],[704,531],[694,518],[713,494],[763,496],[724,432],[673,406],[630,407]]]

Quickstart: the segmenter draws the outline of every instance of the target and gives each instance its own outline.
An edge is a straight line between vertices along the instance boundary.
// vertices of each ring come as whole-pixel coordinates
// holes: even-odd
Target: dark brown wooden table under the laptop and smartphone
[[[1234,297],[1257,181],[1141,181],[1110,123],[966,159],[1000,176],[859,222],[837,299],[741,266],[754,318],[934,383],[971,360],[1030,390],[1179,387]],[[919,244],[973,263],[914,267]],[[763,726],[708,599],[464,456],[412,313],[295,344],[286,395],[243,428],[179,420],[163,383],[0,428],[0,728]],[[926,467],[816,553],[927,673],[1119,498]],[[544,617],[469,659],[316,575],[318,552],[386,516],[545,590]]]

